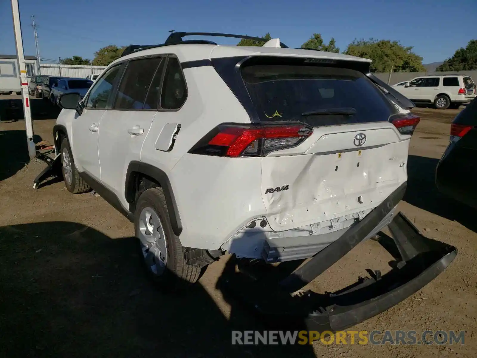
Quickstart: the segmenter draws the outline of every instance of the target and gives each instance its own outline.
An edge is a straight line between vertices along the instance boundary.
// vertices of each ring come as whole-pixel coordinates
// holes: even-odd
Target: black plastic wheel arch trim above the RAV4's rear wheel
[[[164,191],[164,196],[166,197],[166,204],[169,211],[169,219],[171,221],[172,230],[174,231],[176,236],[179,236],[182,232],[182,222],[179,217],[176,198],[174,196],[174,191],[172,190],[169,177],[161,169],[156,168],[150,164],[141,163],[139,161],[132,161],[129,163],[126,172],[124,196],[126,200],[130,203],[130,211],[135,208],[135,173],[147,175],[148,177],[155,179],[160,184],[162,190]]]

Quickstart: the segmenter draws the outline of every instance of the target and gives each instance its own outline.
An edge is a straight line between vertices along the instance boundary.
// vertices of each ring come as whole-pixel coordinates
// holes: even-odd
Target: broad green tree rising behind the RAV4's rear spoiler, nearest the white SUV
[[[393,72],[425,71],[422,57],[412,52],[412,49],[412,46],[403,46],[398,41],[354,39],[344,54],[373,60],[372,72],[389,72],[391,68]]]

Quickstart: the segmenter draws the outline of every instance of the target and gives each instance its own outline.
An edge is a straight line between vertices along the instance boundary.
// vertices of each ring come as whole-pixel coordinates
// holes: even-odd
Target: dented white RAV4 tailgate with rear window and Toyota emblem
[[[410,135],[389,122],[401,115],[361,72],[252,65],[242,78],[260,122],[313,128],[300,145],[262,159],[262,198],[274,231],[372,209],[406,181]]]

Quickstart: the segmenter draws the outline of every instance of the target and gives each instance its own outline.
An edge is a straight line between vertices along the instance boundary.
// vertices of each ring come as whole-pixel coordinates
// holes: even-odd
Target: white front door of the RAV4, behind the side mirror
[[[80,172],[86,172],[96,180],[100,180],[100,164],[98,151],[98,135],[101,118],[107,108],[108,99],[113,93],[114,83],[122,73],[123,66],[109,69],[96,82],[84,101],[81,116],[73,120],[73,158]],[[61,82],[61,81],[60,81]]]

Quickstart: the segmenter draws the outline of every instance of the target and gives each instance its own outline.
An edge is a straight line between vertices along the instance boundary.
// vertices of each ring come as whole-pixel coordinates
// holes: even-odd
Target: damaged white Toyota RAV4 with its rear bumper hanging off
[[[82,102],[74,93],[58,98],[54,138],[66,187],[91,187],[134,221],[153,277],[163,286],[195,282],[224,253],[249,263],[312,257],[281,283],[295,292],[388,225],[401,271],[362,283],[375,297],[368,292],[361,313],[336,318],[337,328],[444,270],[455,248],[431,250],[433,241],[394,212],[419,118],[369,72],[370,60],[279,39],[261,47],[182,40],[190,34],[252,38],[174,32],[165,44],[128,47]]]

